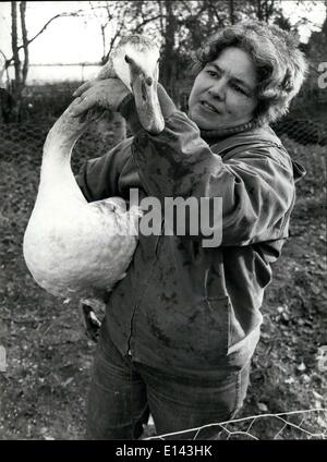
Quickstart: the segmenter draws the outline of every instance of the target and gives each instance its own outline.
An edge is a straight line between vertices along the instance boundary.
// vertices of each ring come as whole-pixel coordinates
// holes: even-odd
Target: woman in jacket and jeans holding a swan
[[[128,199],[131,187],[162,204],[222,197],[218,246],[203,246],[201,233],[140,234],[100,330],[87,413],[92,439],[138,438],[148,410],[158,434],[228,421],[246,393],[270,264],[288,236],[294,182],[303,175],[268,124],[287,112],[305,62],[286,32],[249,22],[210,38],[195,72],[187,115],[159,88],[166,123],[159,135],[140,127],[133,98],[108,80],[101,98],[134,136],[89,160],[77,179],[88,200]],[[88,98],[76,117],[99,102],[98,85],[82,95]]]

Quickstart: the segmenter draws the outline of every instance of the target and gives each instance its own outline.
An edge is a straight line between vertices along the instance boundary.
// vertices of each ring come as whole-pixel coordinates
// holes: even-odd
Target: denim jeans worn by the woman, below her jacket
[[[249,363],[241,370],[219,370],[210,377],[167,373],[122,356],[104,330],[88,394],[87,439],[137,439],[149,412],[157,435],[162,435],[231,420],[242,406]],[[215,439],[216,434],[218,427],[210,427],[167,439]]]

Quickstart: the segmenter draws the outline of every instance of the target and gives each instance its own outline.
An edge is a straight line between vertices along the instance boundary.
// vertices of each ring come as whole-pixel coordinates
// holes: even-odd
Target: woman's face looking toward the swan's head
[[[228,47],[196,76],[189,98],[189,117],[203,130],[246,123],[257,106],[255,89],[250,54]]]

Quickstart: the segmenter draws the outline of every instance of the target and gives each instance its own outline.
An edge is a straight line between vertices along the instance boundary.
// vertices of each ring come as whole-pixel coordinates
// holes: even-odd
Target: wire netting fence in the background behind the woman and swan
[[[40,163],[43,145],[56,118],[38,123],[0,124],[0,159],[17,160],[28,156]],[[301,161],[311,179],[326,181],[327,122],[305,119],[287,119],[272,126],[294,160]],[[107,153],[126,134],[122,119],[108,114],[93,123],[77,142],[72,158],[73,170],[78,170],[86,158]],[[314,191],[312,191],[314,193]]]

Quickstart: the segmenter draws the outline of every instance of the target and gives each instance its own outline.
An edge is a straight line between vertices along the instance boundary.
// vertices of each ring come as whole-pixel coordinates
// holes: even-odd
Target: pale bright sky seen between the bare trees
[[[98,4],[100,2],[92,2]],[[286,15],[292,22],[299,14],[308,17],[317,26],[322,25],[326,10],[324,2],[316,2],[312,12],[307,11],[311,1],[303,1],[296,7],[295,1],[282,2]],[[36,34],[53,15],[85,9],[82,1],[27,1],[26,22],[28,36]],[[7,57],[11,56],[11,20],[10,2],[0,3],[0,50]],[[98,13],[99,14],[99,13]],[[110,33],[110,25],[107,28]],[[310,31],[301,29],[301,39],[306,41]],[[53,21],[48,28],[29,47],[32,63],[81,63],[98,62],[102,56],[100,22],[94,14],[84,20],[81,17],[60,17]]]

